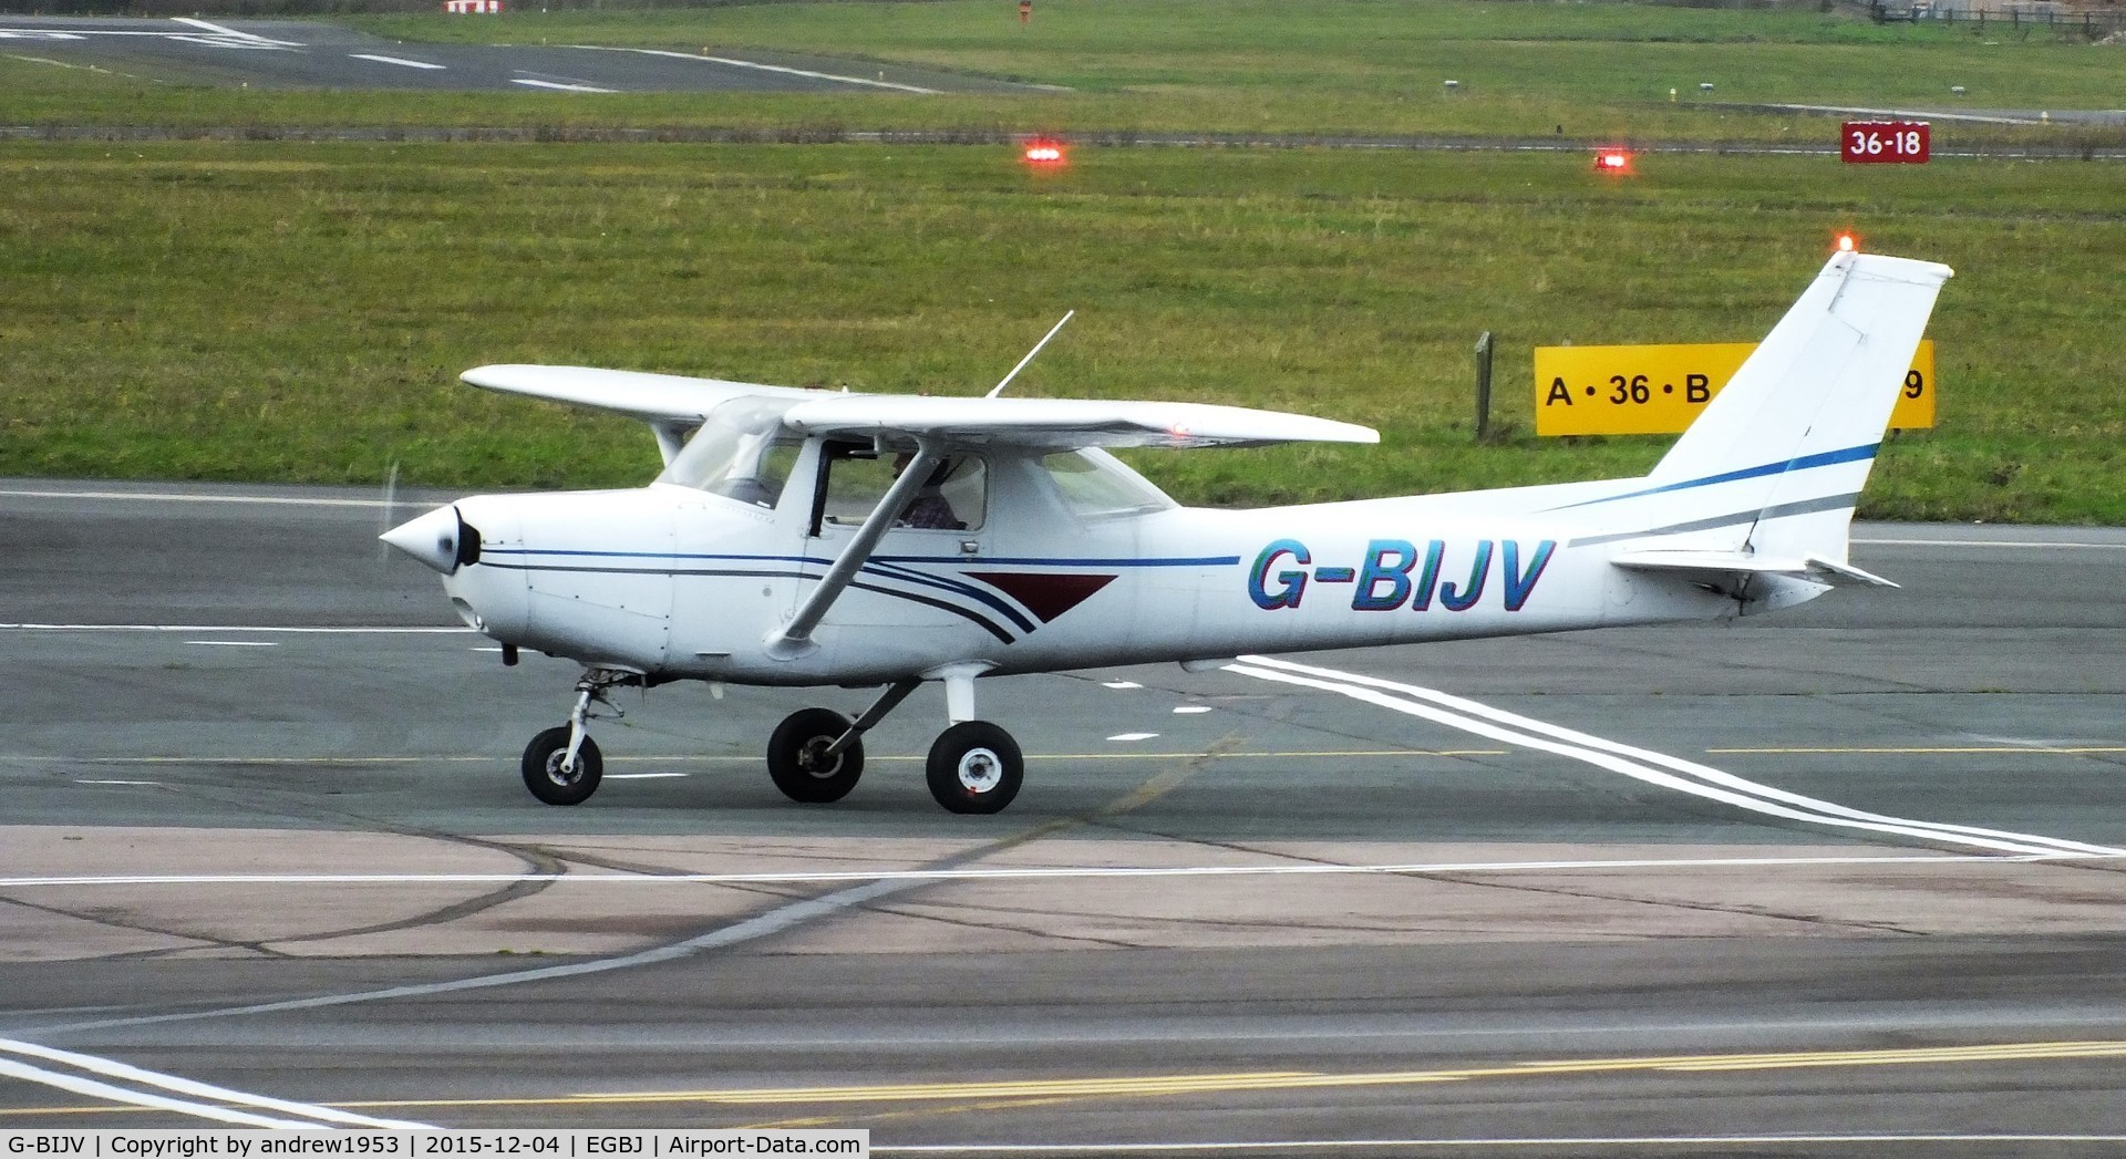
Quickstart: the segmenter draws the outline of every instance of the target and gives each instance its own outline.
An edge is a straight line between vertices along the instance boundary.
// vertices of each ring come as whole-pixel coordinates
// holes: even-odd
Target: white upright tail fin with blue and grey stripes
[[[1843,564],[1854,504],[1950,274],[1835,255],[1637,493],[1677,500],[1677,530],[1733,532],[1720,538],[1735,551]]]

